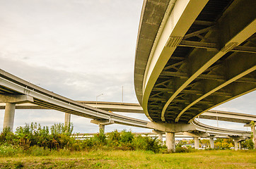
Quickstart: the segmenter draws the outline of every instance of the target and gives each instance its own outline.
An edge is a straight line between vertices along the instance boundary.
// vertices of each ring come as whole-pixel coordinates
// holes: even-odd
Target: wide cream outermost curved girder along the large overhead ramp
[[[144,92],[141,106],[144,108],[145,114],[150,120],[152,119],[147,112],[147,104],[151,89],[156,83],[161,70],[182,40],[182,37],[187,30],[189,30],[207,2],[208,0],[179,0],[175,2],[173,9],[168,8],[169,11],[165,13],[165,21],[163,20],[156,39],[153,42],[153,49],[151,49],[149,54],[149,61],[147,61],[143,77],[144,80],[142,82]],[[179,61],[179,59],[177,61]]]

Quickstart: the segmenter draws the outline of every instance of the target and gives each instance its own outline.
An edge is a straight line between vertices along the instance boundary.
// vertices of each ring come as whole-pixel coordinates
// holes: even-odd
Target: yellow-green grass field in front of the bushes
[[[52,151],[48,156],[1,157],[0,168],[256,168],[256,151]]]

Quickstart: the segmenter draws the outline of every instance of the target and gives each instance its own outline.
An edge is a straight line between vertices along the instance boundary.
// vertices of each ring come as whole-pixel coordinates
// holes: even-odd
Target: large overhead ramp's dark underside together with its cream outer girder
[[[184,13],[193,3],[182,8]],[[184,26],[179,35],[177,25],[168,25],[169,20],[158,30],[161,37],[151,49],[142,87],[141,106],[152,121],[191,123],[210,108],[256,89],[253,1],[223,1],[222,7],[214,6],[215,0],[197,3],[203,6],[194,9],[198,13],[193,15],[194,23],[192,17],[187,23],[182,23],[183,15],[178,18],[177,24]],[[222,8],[216,18],[211,15],[213,6]],[[174,7],[170,20],[175,20],[175,12]]]

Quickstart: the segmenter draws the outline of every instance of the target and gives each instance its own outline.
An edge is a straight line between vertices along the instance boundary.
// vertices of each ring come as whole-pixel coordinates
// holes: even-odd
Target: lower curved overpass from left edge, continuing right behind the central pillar
[[[92,123],[103,126],[117,123],[135,127],[144,127],[153,129],[159,135],[163,134],[165,131],[173,130],[172,126],[166,125],[167,123],[165,123],[165,126],[163,124],[154,125],[146,120],[129,118],[124,115],[110,113],[99,108],[93,108],[92,106],[81,104],[64,96],[54,94],[46,89],[42,89],[42,87],[37,87],[35,84],[31,84],[21,78],[11,75],[10,73],[6,73],[4,70],[0,70],[0,92],[0,102],[6,103],[4,127],[13,127],[16,104],[29,103],[62,111],[64,113],[71,113],[81,117],[91,118],[93,119],[91,120]],[[206,126],[202,123],[197,123],[195,120],[187,125],[176,126],[175,131],[192,134],[197,138],[197,141],[198,137],[214,137],[219,134],[233,137],[237,142],[241,139],[250,137],[250,132],[225,130]]]

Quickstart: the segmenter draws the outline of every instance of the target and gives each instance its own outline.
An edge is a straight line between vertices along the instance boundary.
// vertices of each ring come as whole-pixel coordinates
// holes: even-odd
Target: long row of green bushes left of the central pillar
[[[47,156],[54,149],[69,151],[81,151],[90,149],[112,149],[121,150],[144,150],[159,152],[163,146],[158,139],[151,137],[134,137],[132,131],[117,130],[105,134],[102,130],[88,139],[74,139],[70,137],[73,131],[73,126],[64,124],[54,124],[50,128],[42,127],[40,124],[31,123],[25,124],[23,127],[18,127],[16,133],[5,129],[0,134],[0,145],[2,152],[0,156],[12,156],[15,154],[16,148],[12,145],[19,145],[27,154],[33,156]],[[8,144],[8,146],[6,146]],[[8,155],[9,154],[9,155]]]

